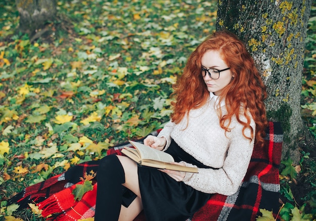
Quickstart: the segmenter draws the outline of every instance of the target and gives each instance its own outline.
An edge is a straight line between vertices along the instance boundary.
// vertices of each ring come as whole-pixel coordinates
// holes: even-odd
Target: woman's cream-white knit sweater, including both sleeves
[[[185,116],[179,124],[169,122],[159,133],[165,137],[166,150],[174,141],[195,159],[214,169],[198,169],[198,173],[186,173],[184,183],[205,193],[220,193],[232,195],[237,192],[244,178],[253,150],[254,139],[250,141],[242,134],[243,126],[236,118],[230,124],[231,131],[226,133],[220,127],[216,104],[217,96],[210,93],[210,100],[198,109],[189,112],[189,123]],[[225,114],[225,103],[221,103]],[[246,122],[245,118],[242,119]],[[251,119],[250,126],[255,130],[255,123]],[[250,137],[250,130],[245,131]],[[187,166],[194,165],[187,163]],[[196,166],[195,166],[196,167]]]

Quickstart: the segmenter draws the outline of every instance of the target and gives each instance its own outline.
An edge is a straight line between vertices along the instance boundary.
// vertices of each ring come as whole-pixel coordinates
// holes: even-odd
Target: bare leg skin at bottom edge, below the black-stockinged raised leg
[[[141,199],[136,197],[134,201],[128,206],[122,206],[119,221],[132,221],[143,209]]]

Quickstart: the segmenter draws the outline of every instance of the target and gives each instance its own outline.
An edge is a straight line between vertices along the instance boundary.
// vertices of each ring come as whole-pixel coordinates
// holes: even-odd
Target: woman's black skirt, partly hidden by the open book
[[[185,161],[198,168],[209,168],[181,149],[174,141],[166,150],[176,162]],[[147,221],[186,220],[200,209],[212,194],[177,182],[157,169],[138,166],[141,200]]]

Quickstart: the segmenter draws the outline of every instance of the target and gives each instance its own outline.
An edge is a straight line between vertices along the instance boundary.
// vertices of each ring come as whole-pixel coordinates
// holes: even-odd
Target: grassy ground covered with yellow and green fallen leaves
[[[38,39],[15,32],[12,2],[0,1],[0,220],[44,220],[36,208],[14,212],[8,198],[161,128],[172,84],[215,30],[217,2],[62,0],[57,21]],[[300,142],[300,165],[283,162],[285,220],[298,208],[309,220],[316,213],[315,14],[313,8],[301,103],[312,135]]]

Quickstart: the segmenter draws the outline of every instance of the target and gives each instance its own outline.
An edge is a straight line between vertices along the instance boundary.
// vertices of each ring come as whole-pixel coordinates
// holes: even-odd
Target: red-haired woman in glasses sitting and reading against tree
[[[125,156],[104,157],[97,177],[96,221],[133,220],[142,209],[147,220],[186,220],[213,193],[237,191],[254,142],[263,145],[267,126],[265,86],[245,45],[227,31],[209,36],[189,57],[174,89],[170,122],[144,144],[199,173],[139,167]],[[125,206],[118,184],[136,194]]]

